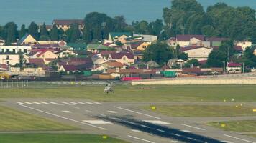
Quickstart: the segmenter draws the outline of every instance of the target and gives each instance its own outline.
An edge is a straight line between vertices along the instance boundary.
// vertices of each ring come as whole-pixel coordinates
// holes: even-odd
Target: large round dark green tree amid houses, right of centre
[[[173,51],[170,49],[168,44],[158,41],[147,47],[144,51],[142,61],[156,61],[157,64],[163,65],[168,62],[169,59],[173,58]]]

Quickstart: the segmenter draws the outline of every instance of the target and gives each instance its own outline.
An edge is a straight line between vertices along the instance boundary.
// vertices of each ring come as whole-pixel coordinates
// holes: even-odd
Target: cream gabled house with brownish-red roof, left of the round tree
[[[114,53],[114,54],[109,54],[109,61],[117,61],[122,64],[134,64],[135,59],[134,59],[134,54],[132,53]]]

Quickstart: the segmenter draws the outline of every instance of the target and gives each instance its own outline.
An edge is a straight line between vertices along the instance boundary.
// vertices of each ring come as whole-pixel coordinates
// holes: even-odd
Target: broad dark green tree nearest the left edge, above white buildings
[[[6,45],[12,44],[17,38],[17,25],[14,22],[9,22],[4,26],[3,37],[6,40]]]

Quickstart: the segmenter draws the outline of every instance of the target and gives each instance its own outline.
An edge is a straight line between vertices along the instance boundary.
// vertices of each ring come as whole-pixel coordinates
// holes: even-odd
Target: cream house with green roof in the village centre
[[[122,44],[127,42],[127,38],[132,37],[131,32],[110,32],[109,41],[120,41]]]

